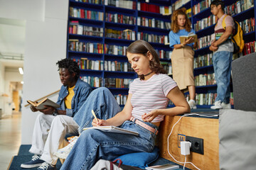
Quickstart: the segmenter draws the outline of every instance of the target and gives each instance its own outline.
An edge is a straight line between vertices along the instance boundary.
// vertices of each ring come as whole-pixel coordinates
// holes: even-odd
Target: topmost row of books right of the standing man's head
[[[224,11],[230,16],[238,14],[242,11],[252,8],[254,6],[254,0],[240,0],[236,1],[230,6],[225,6]]]

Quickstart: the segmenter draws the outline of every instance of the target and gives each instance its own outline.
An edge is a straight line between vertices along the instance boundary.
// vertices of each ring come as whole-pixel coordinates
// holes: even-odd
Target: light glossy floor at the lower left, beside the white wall
[[[0,120],[0,169],[7,169],[21,145],[21,113]]]

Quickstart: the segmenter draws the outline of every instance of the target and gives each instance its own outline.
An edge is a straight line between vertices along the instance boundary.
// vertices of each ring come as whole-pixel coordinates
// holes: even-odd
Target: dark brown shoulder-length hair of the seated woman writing
[[[150,52],[152,55],[152,60],[149,61],[149,68],[151,71],[155,72],[156,74],[166,74],[164,67],[160,64],[159,56],[149,42],[144,40],[134,41],[131,45],[129,45],[129,47],[127,47],[127,52],[133,54],[142,54],[145,57],[147,56],[147,52]],[[139,75],[139,79],[144,79],[144,75]]]

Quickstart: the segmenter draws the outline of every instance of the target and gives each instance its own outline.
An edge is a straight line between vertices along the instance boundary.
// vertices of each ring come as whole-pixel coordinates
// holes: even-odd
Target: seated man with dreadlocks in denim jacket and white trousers
[[[38,110],[31,106],[31,111],[40,111],[33,129],[32,146],[29,152],[33,155],[30,162],[21,164],[22,168],[55,169],[58,157],[53,154],[58,150],[66,133],[78,134],[78,123],[73,117],[86,101],[92,88],[80,80],[78,63],[63,59],[56,63],[60,74],[61,86],[58,101],[60,108],[45,106]]]

